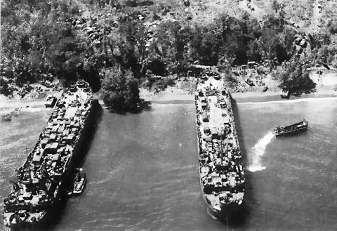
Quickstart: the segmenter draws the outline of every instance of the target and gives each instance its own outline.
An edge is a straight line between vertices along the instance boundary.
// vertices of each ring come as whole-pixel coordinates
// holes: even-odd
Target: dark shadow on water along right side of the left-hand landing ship
[[[101,105],[98,103],[98,101],[93,101],[92,122],[88,126],[88,129],[86,131],[86,136],[84,137],[84,140],[82,142],[83,145],[81,146],[81,150],[79,151],[80,154],[77,155],[76,159],[74,159],[74,169],[84,165],[84,162],[86,161],[86,154],[91,147],[91,143],[93,142],[93,138],[95,137],[98,124],[100,124],[100,121],[102,120],[102,114],[103,108],[101,107]],[[55,206],[52,208],[52,211],[50,211],[48,218],[46,218],[46,221],[39,225],[39,227],[34,226],[28,230],[55,230],[55,226],[58,225],[60,220],[62,220],[62,217],[66,216],[64,210],[67,206],[68,199],[69,196],[67,195],[67,192],[63,192],[59,203],[55,204]]]

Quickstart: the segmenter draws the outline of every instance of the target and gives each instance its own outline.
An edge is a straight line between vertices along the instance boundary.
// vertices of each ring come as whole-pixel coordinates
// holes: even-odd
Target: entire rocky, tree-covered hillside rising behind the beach
[[[335,1],[53,0],[1,1],[0,91],[27,81],[86,79],[121,66],[139,81],[186,76],[255,61],[268,70],[337,67]],[[324,15],[324,17],[322,17]]]

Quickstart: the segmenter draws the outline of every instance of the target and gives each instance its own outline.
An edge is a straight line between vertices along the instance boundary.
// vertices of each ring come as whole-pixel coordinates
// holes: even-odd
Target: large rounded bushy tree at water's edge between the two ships
[[[136,109],[139,98],[138,80],[131,70],[124,71],[121,66],[103,69],[101,93],[105,105],[116,111]]]

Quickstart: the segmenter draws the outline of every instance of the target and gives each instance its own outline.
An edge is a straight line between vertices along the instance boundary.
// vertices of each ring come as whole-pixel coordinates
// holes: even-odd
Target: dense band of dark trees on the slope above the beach
[[[256,61],[272,70],[297,55],[296,30],[282,11],[263,22],[249,13],[223,14],[205,25],[160,20],[158,12],[132,11],[117,1],[2,1],[1,93],[53,78],[85,79],[98,91],[100,73],[115,66],[144,81],[186,74],[192,63],[224,70]],[[312,59],[329,62],[329,36],[311,39]]]

